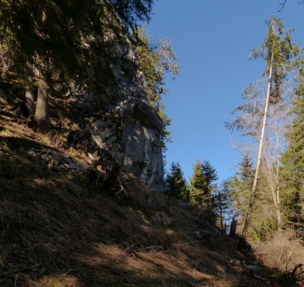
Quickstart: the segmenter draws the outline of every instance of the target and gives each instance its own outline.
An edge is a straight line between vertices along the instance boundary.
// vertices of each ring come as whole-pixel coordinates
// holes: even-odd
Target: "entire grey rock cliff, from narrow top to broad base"
[[[141,73],[136,70],[123,72],[126,71],[125,63],[135,61],[131,46],[118,45],[115,49],[122,59],[120,64],[113,66],[117,78],[114,92],[117,100],[108,105],[105,115],[94,117],[87,126],[91,134],[87,143],[110,153],[123,173],[132,172],[144,183],[162,190],[162,119],[148,105]],[[80,107],[92,108],[89,96],[83,95],[81,99]]]

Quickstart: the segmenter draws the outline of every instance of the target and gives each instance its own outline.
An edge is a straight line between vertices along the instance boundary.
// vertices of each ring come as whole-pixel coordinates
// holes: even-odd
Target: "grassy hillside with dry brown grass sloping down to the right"
[[[0,106],[1,287],[297,286],[136,178],[102,189],[66,129],[37,134],[11,110]]]

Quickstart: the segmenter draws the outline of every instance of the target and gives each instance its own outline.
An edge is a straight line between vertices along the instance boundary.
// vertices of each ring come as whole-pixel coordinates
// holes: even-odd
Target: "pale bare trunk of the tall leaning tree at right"
[[[266,102],[265,102],[265,109],[264,109],[264,118],[263,118],[263,126],[262,126],[262,133],[261,133],[261,140],[260,140],[260,147],[259,147],[259,153],[258,153],[258,161],[257,161],[257,167],[254,175],[252,190],[251,190],[251,196],[250,196],[250,202],[249,202],[249,208],[245,219],[245,224],[242,232],[242,237],[245,237],[247,235],[249,220],[252,212],[252,206],[255,196],[255,190],[257,187],[258,182],[258,176],[259,176],[259,169],[261,164],[261,155],[262,155],[262,148],[263,148],[263,139],[264,139],[264,133],[265,133],[265,126],[266,126],[266,119],[267,119],[267,111],[268,111],[268,104],[269,104],[269,95],[270,95],[270,86],[271,86],[271,80],[272,80],[272,64],[273,64],[273,53],[271,54],[271,61],[270,61],[270,70],[269,70],[269,78],[268,78],[268,87],[267,87],[267,95],[266,95]]]

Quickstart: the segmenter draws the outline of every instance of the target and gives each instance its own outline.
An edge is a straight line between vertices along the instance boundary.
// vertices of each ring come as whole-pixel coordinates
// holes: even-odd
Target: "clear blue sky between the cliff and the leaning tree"
[[[282,0],[283,1],[283,0]],[[266,36],[265,19],[280,17],[296,28],[293,41],[304,46],[304,4],[281,0],[159,0],[147,31],[152,41],[170,38],[181,63],[181,76],[166,79],[170,90],[163,103],[173,118],[167,168],[180,162],[185,177],[196,159],[209,160],[219,183],[235,172],[241,155],[224,127],[231,111],[242,104],[243,89],[261,77],[264,62],[248,61],[251,50]]]

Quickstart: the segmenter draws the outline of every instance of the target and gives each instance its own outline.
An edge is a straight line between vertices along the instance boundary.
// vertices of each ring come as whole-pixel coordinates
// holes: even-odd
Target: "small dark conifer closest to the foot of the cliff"
[[[186,200],[187,184],[183,177],[182,167],[179,163],[172,163],[170,172],[164,180],[164,192],[170,198]]]

